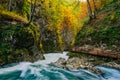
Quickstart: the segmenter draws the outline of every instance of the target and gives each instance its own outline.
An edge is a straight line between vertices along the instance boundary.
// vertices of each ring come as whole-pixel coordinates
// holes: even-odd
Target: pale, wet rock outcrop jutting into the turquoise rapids
[[[100,72],[101,72],[101,71],[95,69],[93,64],[87,62],[86,58],[81,59],[78,57],[73,57],[73,58],[69,58],[68,60],[60,58],[55,63],[51,63],[51,65],[60,67],[60,68],[65,68],[68,70],[87,69],[87,70],[97,73],[97,74],[100,74]]]

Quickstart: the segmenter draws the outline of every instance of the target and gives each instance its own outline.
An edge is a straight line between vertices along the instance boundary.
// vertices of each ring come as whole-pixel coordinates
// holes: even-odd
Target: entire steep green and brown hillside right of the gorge
[[[92,45],[120,51],[120,1],[111,1],[97,13],[96,19],[86,22],[76,37],[76,46]]]

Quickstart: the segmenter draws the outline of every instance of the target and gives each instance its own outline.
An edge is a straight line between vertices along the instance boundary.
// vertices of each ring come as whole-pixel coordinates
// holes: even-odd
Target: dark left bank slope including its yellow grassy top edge
[[[0,65],[43,59],[38,38],[39,26],[17,13],[0,11]]]

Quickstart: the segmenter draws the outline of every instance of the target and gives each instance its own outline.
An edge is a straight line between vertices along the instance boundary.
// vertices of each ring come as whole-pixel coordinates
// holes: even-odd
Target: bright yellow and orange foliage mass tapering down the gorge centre
[[[41,6],[40,14],[47,17],[48,29],[55,31],[61,48],[73,45],[75,36],[82,27],[79,11],[74,10],[76,3],[73,3],[74,0],[70,0],[70,3],[66,0],[45,0]]]

